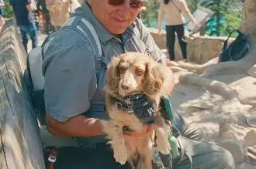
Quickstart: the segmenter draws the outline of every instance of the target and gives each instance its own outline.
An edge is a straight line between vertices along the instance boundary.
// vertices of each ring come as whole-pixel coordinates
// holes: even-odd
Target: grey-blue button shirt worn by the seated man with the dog
[[[46,110],[50,117],[61,122],[79,114],[106,119],[105,96],[102,90],[106,84],[106,68],[112,57],[124,52],[142,52],[159,63],[164,63],[165,59],[140,19],[133,22],[120,39],[117,39],[95,19],[86,3],[76,12],[91,22],[99,35],[103,58],[99,84],[97,85],[95,75],[95,47],[90,39],[74,29],[62,29],[50,42],[43,58]]]

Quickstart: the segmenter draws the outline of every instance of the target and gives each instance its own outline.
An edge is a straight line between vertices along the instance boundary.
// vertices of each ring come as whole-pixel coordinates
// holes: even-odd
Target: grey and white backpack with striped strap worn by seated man
[[[93,25],[88,22],[81,15],[74,15],[61,27],[61,29],[75,29],[81,33],[85,38],[89,39],[92,46],[97,46],[97,49],[93,49],[95,54],[95,73],[97,78],[97,84],[99,83],[99,70],[102,65],[102,46],[99,41],[99,36],[95,31]],[[33,107],[36,110],[36,114],[41,124],[45,124],[45,104],[44,104],[44,76],[42,73],[43,54],[47,51],[47,47],[50,45],[54,35],[57,32],[48,35],[44,40],[42,46],[38,46],[29,52],[26,58],[27,69],[24,73],[26,84],[29,89],[30,96],[32,98]],[[91,38],[88,38],[91,37]]]

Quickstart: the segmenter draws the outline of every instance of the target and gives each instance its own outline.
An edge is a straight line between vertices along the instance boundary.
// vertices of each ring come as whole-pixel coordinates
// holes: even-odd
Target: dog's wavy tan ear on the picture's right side
[[[148,96],[158,93],[164,84],[164,76],[161,66],[157,63],[146,64],[146,75],[144,79],[144,93]]]

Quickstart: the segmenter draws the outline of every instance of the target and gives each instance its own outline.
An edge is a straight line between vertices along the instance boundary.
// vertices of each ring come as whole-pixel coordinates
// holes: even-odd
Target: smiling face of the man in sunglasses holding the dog
[[[110,5],[109,0],[88,0],[88,3],[99,22],[114,35],[125,32],[142,10],[131,7],[130,0],[122,5]]]

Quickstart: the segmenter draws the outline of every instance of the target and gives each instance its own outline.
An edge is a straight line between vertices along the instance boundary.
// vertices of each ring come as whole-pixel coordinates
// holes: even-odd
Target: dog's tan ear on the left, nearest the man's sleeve
[[[118,90],[120,73],[119,73],[119,63],[123,56],[118,56],[112,59],[107,71],[106,71],[106,84],[111,91]]]

